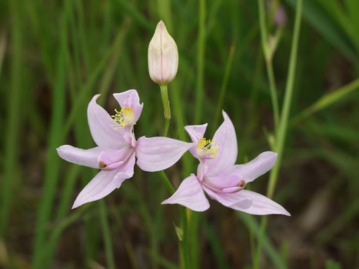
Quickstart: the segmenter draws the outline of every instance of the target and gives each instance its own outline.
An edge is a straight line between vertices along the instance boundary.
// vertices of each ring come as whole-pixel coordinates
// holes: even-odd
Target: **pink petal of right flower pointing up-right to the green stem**
[[[246,183],[249,183],[271,170],[277,160],[277,155],[277,153],[271,151],[262,152],[248,163],[233,166],[232,172],[244,179]]]

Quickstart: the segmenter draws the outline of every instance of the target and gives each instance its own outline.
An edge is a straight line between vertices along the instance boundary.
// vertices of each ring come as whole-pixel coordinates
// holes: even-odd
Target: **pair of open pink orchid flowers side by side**
[[[133,168],[155,172],[173,166],[187,150],[200,161],[197,176],[182,181],[178,190],[162,203],[178,203],[191,210],[209,208],[209,197],[224,206],[253,215],[290,215],[278,203],[256,192],[243,190],[270,170],[275,163],[275,152],[263,152],[249,163],[235,165],[237,139],[231,119],[223,112],[224,122],[215,132],[213,140],[206,140],[207,124],[186,126],[193,143],[167,137],[140,137],[135,139],[133,126],[139,119],[143,103],[139,103],[136,90],[113,94],[121,110],[110,116],[96,103],[99,94],[88,104],[88,124],[97,147],[89,150],[69,145],[57,148],[62,159],[82,166],[100,168],[101,171],[79,193],[72,208],[95,201],[119,188],[125,179],[133,177]]]

